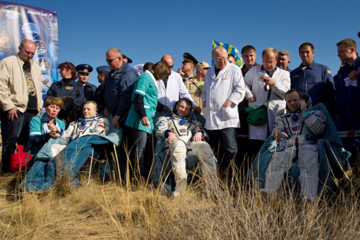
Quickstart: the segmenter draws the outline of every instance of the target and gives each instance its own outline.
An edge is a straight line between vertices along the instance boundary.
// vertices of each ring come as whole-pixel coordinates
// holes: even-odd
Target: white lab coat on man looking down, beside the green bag
[[[247,98],[251,96],[256,97],[256,101],[249,103],[249,107],[261,106],[264,103],[268,104],[268,124],[271,132],[275,122],[276,113],[286,106],[285,94],[290,90],[290,73],[280,68],[276,68],[272,75],[272,78],[276,80],[276,83],[271,88],[270,99],[268,101],[269,92],[265,92],[264,86],[266,84],[259,78],[259,72],[266,74],[265,70],[261,70],[260,65],[252,67],[244,77],[245,84],[248,88],[251,88],[251,94],[248,93]],[[268,91],[269,88],[270,86],[267,87]],[[249,124],[249,139],[265,141],[268,137],[268,124],[261,126]]]

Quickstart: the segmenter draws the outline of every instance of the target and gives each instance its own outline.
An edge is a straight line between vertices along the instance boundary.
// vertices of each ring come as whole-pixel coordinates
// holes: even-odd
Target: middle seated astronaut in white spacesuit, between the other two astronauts
[[[201,171],[206,187],[215,195],[224,195],[218,187],[216,162],[210,145],[203,142],[205,135],[200,121],[191,120],[192,103],[181,98],[173,107],[170,117],[157,120],[157,137],[166,139],[170,150],[171,167],[175,175],[176,187],[173,196],[179,196],[186,188],[186,154],[200,159]]]

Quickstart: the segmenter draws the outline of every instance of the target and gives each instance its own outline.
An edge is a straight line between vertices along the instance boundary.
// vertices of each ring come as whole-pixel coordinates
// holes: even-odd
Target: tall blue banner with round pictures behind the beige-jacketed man
[[[0,1],[0,60],[16,55],[24,39],[36,44],[33,60],[42,72],[43,96],[58,81],[58,22],[55,11]]]

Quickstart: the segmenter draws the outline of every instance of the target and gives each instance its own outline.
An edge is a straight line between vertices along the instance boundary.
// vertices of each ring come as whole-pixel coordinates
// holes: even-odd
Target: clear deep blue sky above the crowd
[[[265,48],[287,49],[289,67],[301,63],[298,47],[315,46],[314,60],[336,74],[336,43],[360,39],[359,0],[302,1],[142,1],[142,0],[7,0],[57,12],[59,63],[106,65],[105,52],[119,48],[133,64],[157,62],[164,54],[181,67],[182,54],[211,64],[212,40],[241,51],[256,48],[258,63]],[[359,46],[359,45],[358,45]],[[96,73],[89,81],[98,85]]]

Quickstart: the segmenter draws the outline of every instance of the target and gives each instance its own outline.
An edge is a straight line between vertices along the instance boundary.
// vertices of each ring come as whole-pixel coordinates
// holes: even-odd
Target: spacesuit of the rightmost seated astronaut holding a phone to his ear
[[[325,115],[320,111],[309,111],[308,108],[276,117],[272,135],[280,129],[284,130],[288,138],[285,149],[276,149],[272,154],[262,192],[277,192],[284,173],[291,167],[292,160],[298,157],[302,193],[306,199],[317,201],[319,167],[315,136],[321,134],[325,126]]]

